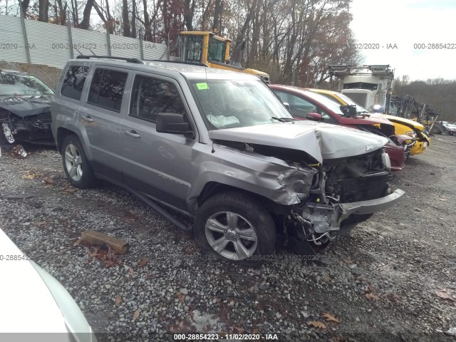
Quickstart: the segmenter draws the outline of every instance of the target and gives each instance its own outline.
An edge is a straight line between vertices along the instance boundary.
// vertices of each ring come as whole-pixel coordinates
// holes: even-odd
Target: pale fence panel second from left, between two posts
[[[71,58],[68,27],[26,20],[31,63],[63,68]]]

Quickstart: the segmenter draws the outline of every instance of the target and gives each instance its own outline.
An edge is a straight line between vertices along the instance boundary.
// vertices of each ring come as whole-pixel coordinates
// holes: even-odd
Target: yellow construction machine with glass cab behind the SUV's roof
[[[234,51],[234,61],[229,60],[231,40],[217,36],[210,31],[182,31],[180,33],[179,58],[183,62],[203,63],[210,68],[219,68],[239,73],[252,73],[264,82],[269,83],[269,75],[262,71],[242,68],[242,51],[245,41]]]

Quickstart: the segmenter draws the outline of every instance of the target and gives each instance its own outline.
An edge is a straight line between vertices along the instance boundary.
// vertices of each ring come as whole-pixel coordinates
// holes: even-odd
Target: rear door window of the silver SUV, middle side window
[[[127,73],[97,68],[93,74],[87,102],[120,112]]]

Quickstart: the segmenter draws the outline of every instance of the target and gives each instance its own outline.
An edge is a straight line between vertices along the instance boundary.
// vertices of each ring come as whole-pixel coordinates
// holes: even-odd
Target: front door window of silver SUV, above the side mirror
[[[184,103],[174,84],[136,76],[130,103],[130,116],[155,123],[157,113],[185,114]]]

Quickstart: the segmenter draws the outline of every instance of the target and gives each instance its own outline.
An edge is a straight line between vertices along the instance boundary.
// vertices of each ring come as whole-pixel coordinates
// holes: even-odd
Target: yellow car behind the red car
[[[348,96],[343,95],[337,91],[333,90],[324,90],[324,89],[308,89],[314,91],[315,93],[320,93],[321,95],[330,98],[341,105],[356,105],[358,112],[368,113],[368,110],[358,105]],[[380,114],[380,113],[370,113],[371,117],[375,118],[378,115],[382,115],[383,118],[387,118],[394,124],[395,134],[398,135],[408,135],[411,138],[415,138],[415,145],[410,149],[410,155],[419,155],[420,153],[425,152],[427,147],[430,145],[429,133],[425,131],[425,126],[417,123],[416,121],[400,118],[399,116]]]

